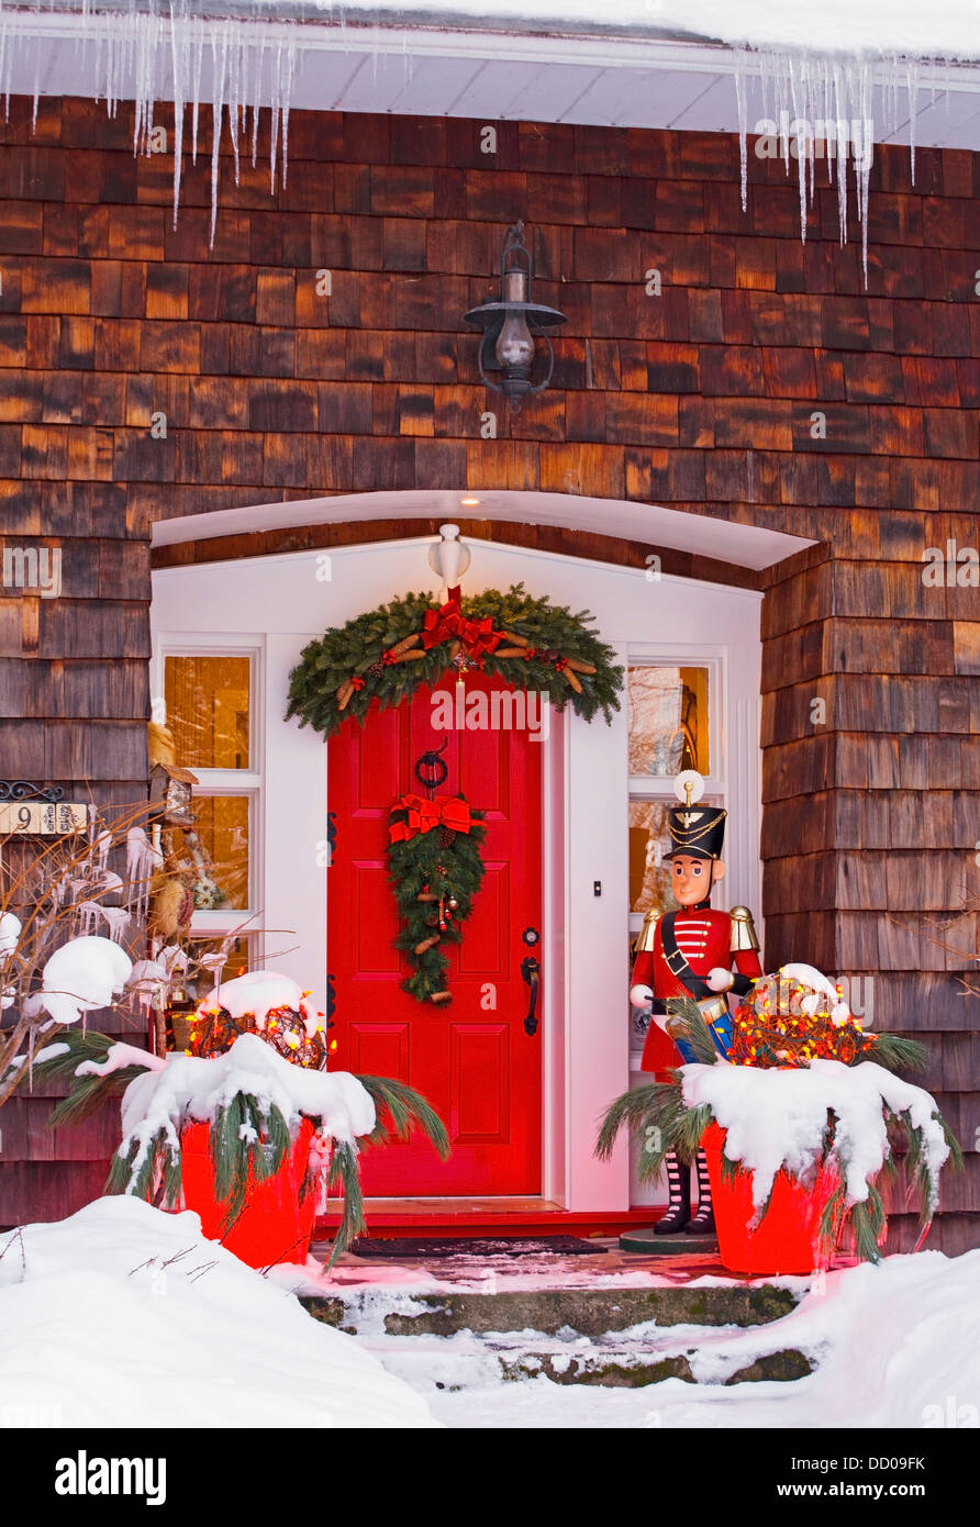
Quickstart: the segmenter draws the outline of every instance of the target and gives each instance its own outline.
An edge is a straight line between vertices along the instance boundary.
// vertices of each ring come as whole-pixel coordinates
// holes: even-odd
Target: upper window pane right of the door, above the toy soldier
[[[708,670],[641,664],[629,670],[629,771],[710,774]]]

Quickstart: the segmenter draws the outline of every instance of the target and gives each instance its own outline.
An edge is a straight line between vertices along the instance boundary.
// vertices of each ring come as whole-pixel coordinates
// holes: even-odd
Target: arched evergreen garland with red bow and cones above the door
[[[443,605],[406,594],[310,641],[290,675],[285,715],[331,736],[348,716],[363,718],[372,699],[397,705],[453,667],[546,693],[556,710],[571,704],[585,721],[601,710],[609,722],[623,687],[612,658],[588,611],[533,599],[524,583],[467,599],[453,588]]]

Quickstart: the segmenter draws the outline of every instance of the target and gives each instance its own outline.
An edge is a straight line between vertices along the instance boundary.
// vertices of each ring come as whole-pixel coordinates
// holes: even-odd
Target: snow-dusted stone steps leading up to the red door
[[[611,1240],[594,1255],[345,1254],[301,1299],[423,1394],[540,1379],[644,1388],[804,1377],[811,1362],[779,1322],[808,1284],[740,1278],[687,1245],[644,1257]]]

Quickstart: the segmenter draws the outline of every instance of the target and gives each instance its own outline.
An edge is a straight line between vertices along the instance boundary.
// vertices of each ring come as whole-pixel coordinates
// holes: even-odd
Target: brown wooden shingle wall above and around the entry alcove
[[[139,788],[154,518],[530,489],[812,538],[763,606],[769,962],[872,976],[875,1022],[931,1041],[971,1147],[933,1243],[975,1240],[980,591],[922,571],[978,542],[980,156],[919,150],[913,186],[878,150],[866,287],[835,189],[803,246],[782,162],[750,153],[743,214],[722,134],[498,122],[488,156],[481,122],[299,111],[275,197],[226,140],[211,249],[209,153],[174,228],[131,125],[89,101],[0,125],[0,527],[64,562],[58,600],[0,591],[0,774]],[[517,217],[568,325],[484,440],[461,315]],[[0,1157],[0,1222],[84,1197],[49,1147]]]

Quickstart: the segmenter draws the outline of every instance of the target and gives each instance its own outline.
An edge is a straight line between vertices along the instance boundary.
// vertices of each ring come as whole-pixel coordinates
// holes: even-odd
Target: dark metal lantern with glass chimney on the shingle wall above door
[[[467,324],[484,330],[479,347],[479,374],[495,392],[502,392],[514,414],[531,392],[543,392],[554,371],[554,350],[548,328],[565,322],[565,313],[556,307],[540,307],[531,301],[531,255],[524,243],[524,223],[514,223],[504,238],[501,261],[501,299],[470,308]],[[543,382],[531,380],[534,363],[534,336],[540,334],[548,347],[548,374]],[[492,382],[488,371],[502,371],[499,382]]]

